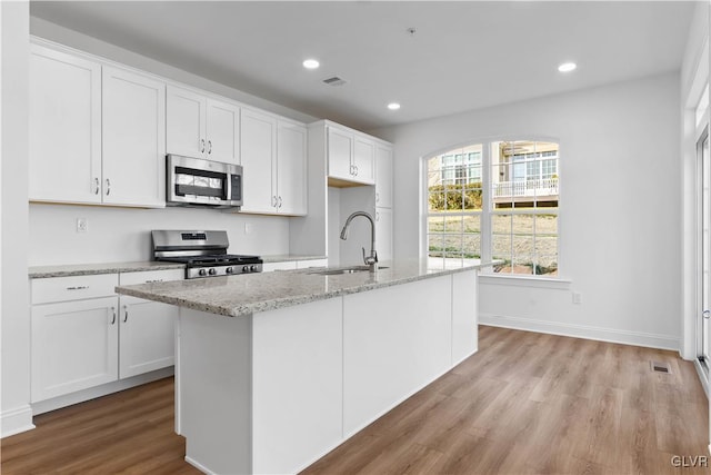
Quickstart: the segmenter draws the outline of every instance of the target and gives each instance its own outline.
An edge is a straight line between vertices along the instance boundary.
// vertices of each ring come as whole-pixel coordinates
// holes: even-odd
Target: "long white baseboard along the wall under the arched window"
[[[587,325],[561,324],[537,320],[532,318],[505,317],[501,315],[479,314],[479,323],[492,327],[538,331],[551,335],[571,336],[575,338],[600,342],[620,343],[623,345],[644,346],[658,349],[679,350],[679,338],[667,335],[629,331],[613,328],[591,327]]]

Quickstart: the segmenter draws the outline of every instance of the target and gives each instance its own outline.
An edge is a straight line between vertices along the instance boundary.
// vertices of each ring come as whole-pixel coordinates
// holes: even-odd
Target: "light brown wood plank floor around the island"
[[[711,473],[691,466],[709,455],[708,403],[677,353],[484,326],[479,347],[303,473]],[[169,378],[40,415],[2,439],[2,474],[198,473],[172,390]]]

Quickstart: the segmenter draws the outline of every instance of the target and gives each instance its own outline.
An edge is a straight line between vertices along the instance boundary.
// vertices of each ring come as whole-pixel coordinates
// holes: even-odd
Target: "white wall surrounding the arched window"
[[[420,249],[421,157],[487,137],[555,137],[570,284],[482,278],[482,321],[679,348],[679,123],[669,73],[377,130],[395,145],[395,255]]]

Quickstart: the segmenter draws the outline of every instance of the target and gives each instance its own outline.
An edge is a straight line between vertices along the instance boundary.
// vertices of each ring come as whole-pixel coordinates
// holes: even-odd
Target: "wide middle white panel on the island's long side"
[[[343,435],[451,367],[451,276],[343,297]]]

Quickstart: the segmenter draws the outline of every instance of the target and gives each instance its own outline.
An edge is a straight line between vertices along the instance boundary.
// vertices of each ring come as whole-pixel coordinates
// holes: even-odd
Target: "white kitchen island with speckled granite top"
[[[381,266],[117,287],[180,306],[176,427],[190,464],[299,472],[477,352],[481,264]]]

